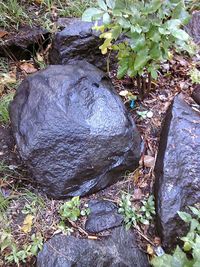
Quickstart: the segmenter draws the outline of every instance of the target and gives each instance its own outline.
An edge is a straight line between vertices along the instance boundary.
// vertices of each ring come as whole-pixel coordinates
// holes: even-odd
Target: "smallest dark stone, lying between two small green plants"
[[[118,208],[108,200],[91,200],[89,202],[90,215],[87,218],[85,229],[90,233],[99,233],[119,226],[123,222]]]

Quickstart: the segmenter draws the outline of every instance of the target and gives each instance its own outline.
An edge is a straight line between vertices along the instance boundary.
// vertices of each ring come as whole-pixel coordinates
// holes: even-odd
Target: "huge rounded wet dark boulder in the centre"
[[[27,77],[10,116],[22,159],[53,198],[93,193],[138,165],[136,126],[110,80],[87,62]]]

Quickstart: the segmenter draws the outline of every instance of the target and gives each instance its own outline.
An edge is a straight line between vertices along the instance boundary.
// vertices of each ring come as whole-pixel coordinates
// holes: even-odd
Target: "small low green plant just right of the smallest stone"
[[[155,214],[155,203],[153,196],[150,196],[147,200],[142,201],[140,209],[136,209],[131,202],[130,194],[122,194],[119,202],[118,212],[123,215],[126,229],[130,229],[132,226],[136,227],[138,223],[149,224],[152,219],[152,215]]]

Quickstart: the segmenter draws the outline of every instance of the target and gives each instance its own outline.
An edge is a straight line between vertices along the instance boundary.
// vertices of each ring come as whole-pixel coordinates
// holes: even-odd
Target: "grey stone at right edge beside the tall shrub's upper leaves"
[[[200,44],[200,11],[195,11],[188,25],[185,27],[194,42]]]

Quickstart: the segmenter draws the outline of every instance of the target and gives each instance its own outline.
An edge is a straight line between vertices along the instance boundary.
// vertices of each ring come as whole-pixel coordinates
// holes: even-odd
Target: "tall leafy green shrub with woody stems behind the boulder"
[[[162,62],[171,57],[170,49],[194,52],[189,35],[181,29],[189,20],[183,0],[98,0],[99,8],[89,8],[85,21],[102,20],[102,54],[117,51],[118,78],[137,78],[140,97],[157,79]],[[96,24],[97,25],[97,24]],[[116,42],[117,41],[117,42]]]

